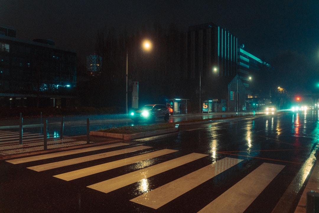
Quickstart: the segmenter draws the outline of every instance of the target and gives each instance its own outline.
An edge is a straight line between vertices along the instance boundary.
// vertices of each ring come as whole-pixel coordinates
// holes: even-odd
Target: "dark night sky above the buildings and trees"
[[[52,39],[78,57],[94,53],[97,31],[104,26],[134,30],[158,21],[175,23],[180,32],[213,22],[266,62],[282,51],[319,60],[318,0],[2,0],[0,25],[16,29],[17,38]]]

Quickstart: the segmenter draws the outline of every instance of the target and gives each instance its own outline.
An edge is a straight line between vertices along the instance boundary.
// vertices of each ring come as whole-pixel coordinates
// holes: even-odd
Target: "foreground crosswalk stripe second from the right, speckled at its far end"
[[[212,179],[216,175],[240,163],[241,161],[243,160],[225,157],[197,171],[189,173],[188,175],[142,194],[130,201],[151,207],[153,209],[158,209],[159,207],[199,186],[205,181]]]

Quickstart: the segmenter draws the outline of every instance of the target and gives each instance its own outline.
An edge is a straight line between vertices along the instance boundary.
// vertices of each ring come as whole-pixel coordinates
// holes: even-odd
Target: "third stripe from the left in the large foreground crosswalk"
[[[121,159],[121,160],[118,160],[118,161],[113,161],[113,162],[109,162],[109,163],[105,163],[105,164],[100,164],[100,165],[96,165],[96,166],[87,167],[87,168],[84,168],[84,169],[79,169],[79,170],[75,170],[75,171],[66,172],[66,173],[63,173],[63,174],[58,174],[58,175],[55,175],[53,177],[56,177],[56,178],[59,178],[59,179],[63,179],[63,180],[66,180],[66,181],[70,181],[70,180],[82,178],[82,177],[85,177],[85,176],[93,175],[93,174],[96,174],[96,173],[99,173],[99,172],[115,169],[115,168],[118,168],[118,167],[121,167],[121,166],[134,164],[134,163],[139,162],[139,161],[155,158],[155,157],[162,156],[162,155],[167,155],[167,154],[170,154],[170,153],[173,153],[173,152],[177,152],[177,151],[178,150],[173,150],[173,149],[162,149],[162,150],[159,150],[159,151],[150,152],[150,153],[142,154],[142,155],[139,155],[139,156],[128,157],[128,158]]]

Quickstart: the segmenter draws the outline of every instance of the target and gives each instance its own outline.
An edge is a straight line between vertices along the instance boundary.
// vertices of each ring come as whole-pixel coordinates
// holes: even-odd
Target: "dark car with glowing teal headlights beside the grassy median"
[[[169,115],[169,110],[163,104],[148,104],[130,113],[131,119],[136,123],[140,120],[154,122],[158,118],[168,121]]]

